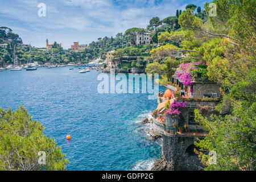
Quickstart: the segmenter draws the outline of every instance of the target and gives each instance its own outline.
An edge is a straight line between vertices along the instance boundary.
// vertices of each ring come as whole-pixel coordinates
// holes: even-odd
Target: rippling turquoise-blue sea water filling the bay
[[[100,94],[101,72],[69,68],[0,72],[0,107],[25,106],[61,146],[68,170],[150,169],[161,156],[162,141],[151,140],[151,125],[140,121],[151,117],[156,100],[141,92]]]

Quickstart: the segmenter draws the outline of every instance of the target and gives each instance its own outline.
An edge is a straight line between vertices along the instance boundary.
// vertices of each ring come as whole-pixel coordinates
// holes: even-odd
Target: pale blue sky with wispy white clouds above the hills
[[[89,44],[115,36],[128,28],[146,28],[149,20],[174,16],[188,4],[204,7],[209,1],[182,0],[0,0],[0,26],[19,34],[23,43],[45,47],[46,39],[62,43]],[[38,16],[39,3],[46,4],[46,16]]]

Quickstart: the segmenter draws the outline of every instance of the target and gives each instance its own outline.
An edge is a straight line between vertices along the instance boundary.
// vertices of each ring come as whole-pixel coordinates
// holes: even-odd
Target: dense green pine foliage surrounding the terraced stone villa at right
[[[164,60],[179,60],[183,71],[179,76],[188,85],[192,79],[220,84],[223,99],[216,108],[218,114],[207,119],[200,109],[195,110],[196,121],[209,131],[205,139],[195,142],[200,147],[196,152],[207,170],[255,170],[256,5],[252,0],[213,2],[217,16],[209,16],[209,3],[204,6],[208,17],[195,5],[186,7],[178,19],[181,28],[158,36],[164,46],[152,49],[155,62],[146,71],[160,73],[167,82]],[[209,163],[203,151],[215,151],[217,163]]]

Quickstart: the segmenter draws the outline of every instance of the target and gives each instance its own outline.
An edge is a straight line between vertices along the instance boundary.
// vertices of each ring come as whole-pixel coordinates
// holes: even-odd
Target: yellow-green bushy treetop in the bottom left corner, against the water
[[[0,169],[65,170],[68,160],[43,130],[23,106],[17,110],[0,108]],[[46,152],[46,164],[38,163],[39,151]]]

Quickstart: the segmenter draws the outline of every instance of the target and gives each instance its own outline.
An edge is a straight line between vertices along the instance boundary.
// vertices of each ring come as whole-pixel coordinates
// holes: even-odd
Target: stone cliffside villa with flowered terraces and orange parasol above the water
[[[221,97],[220,85],[200,78],[189,82],[181,73],[177,71],[165,85],[165,92],[158,93],[158,107],[152,113],[153,130],[163,136],[162,158],[153,170],[203,169],[194,142],[208,131],[195,122],[195,109],[210,119]]]

